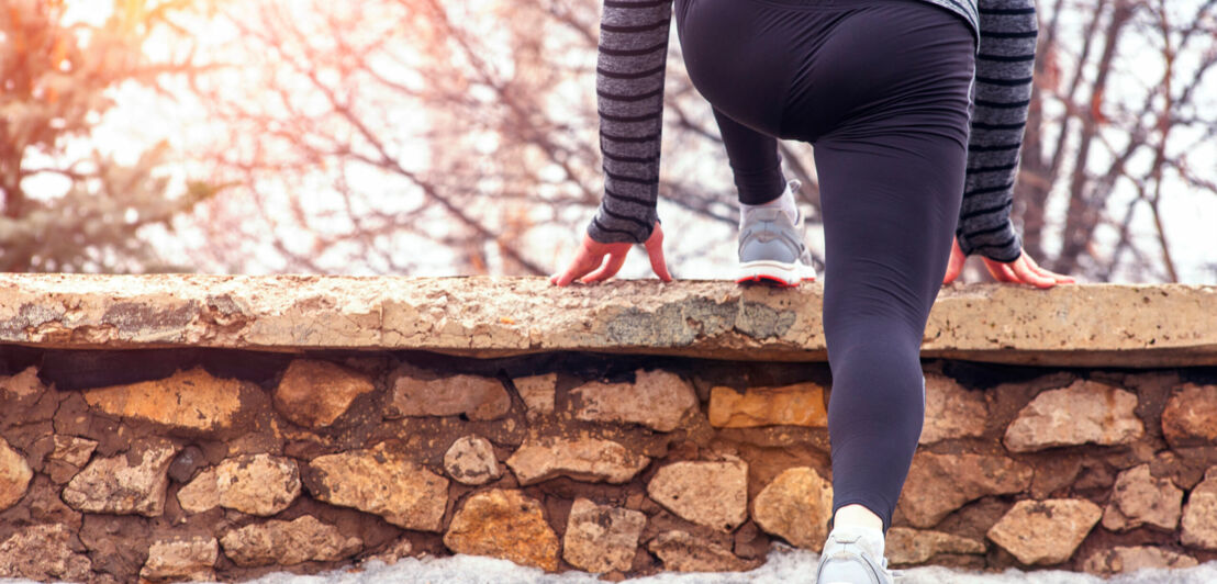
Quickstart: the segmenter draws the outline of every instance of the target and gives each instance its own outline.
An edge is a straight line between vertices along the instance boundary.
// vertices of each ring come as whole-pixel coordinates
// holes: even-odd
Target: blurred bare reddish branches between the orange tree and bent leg
[[[270,241],[271,270],[543,274],[599,204],[599,2],[265,0],[224,15],[236,33],[213,63],[231,67],[196,85],[223,136],[214,180],[241,184],[204,206],[223,265],[265,269]],[[668,137],[683,156],[661,192],[727,240],[725,164],[678,164],[719,152],[682,72]]]

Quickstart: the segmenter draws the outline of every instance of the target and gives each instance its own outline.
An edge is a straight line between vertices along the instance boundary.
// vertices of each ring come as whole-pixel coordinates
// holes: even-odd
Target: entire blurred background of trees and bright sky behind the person
[[[554,270],[600,200],[599,11],[6,0],[0,270]],[[1028,253],[1087,281],[1217,282],[1217,215],[1202,217],[1217,210],[1217,0],[1039,12],[1014,217]],[[669,263],[712,277],[734,262],[734,186],[677,43],[668,72]],[[814,148],[783,153],[814,224]]]

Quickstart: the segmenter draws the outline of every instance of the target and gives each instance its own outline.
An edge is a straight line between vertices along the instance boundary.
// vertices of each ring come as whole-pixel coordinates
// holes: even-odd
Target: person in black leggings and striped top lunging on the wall
[[[672,280],[656,197],[673,13],[739,190],[736,280],[814,277],[778,139],[814,147],[834,488],[817,580],[891,582],[884,534],[921,433],[920,343],[942,285],[969,254],[1002,282],[1073,282],[1023,253],[1010,221],[1033,0],[605,0],[605,197],[554,285],[607,280],[638,243]]]

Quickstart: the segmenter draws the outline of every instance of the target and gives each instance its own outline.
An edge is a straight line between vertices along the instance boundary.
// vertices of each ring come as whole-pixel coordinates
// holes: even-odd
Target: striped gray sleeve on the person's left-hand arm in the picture
[[[605,197],[588,235],[601,243],[651,236],[660,184],[663,82],[672,0],[605,0],[596,101]]]

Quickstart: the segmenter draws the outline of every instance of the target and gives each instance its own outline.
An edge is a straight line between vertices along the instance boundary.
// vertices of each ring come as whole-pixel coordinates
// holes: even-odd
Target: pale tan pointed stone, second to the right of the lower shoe
[[[988,530],[988,538],[1020,562],[1041,566],[1073,556],[1103,510],[1084,499],[1019,501]]]

